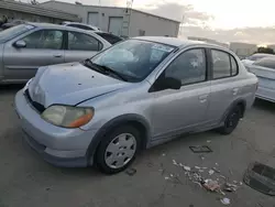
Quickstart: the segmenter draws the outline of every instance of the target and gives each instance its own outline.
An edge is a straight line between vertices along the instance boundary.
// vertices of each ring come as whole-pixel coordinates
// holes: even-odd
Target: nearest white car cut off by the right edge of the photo
[[[258,78],[256,97],[275,102],[275,56],[268,56],[246,65]]]

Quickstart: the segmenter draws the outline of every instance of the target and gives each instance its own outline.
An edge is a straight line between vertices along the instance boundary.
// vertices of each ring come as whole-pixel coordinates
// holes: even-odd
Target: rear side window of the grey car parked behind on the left
[[[102,43],[94,36],[79,32],[68,32],[69,51],[100,51]]]

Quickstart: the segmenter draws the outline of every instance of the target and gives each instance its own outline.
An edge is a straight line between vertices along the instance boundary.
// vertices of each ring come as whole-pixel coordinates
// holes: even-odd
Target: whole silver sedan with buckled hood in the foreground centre
[[[40,67],[15,110],[24,140],[47,162],[118,173],[139,151],[182,133],[231,133],[256,85],[227,48],[143,36],[80,63]]]

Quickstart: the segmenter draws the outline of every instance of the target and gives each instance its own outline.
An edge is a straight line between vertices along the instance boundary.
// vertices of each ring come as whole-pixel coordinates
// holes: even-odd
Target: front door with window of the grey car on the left
[[[25,47],[16,48],[16,41],[24,41]],[[25,81],[33,77],[40,66],[64,63],[64,32],[59,30],[36,30],[4,46],[4,79]]]

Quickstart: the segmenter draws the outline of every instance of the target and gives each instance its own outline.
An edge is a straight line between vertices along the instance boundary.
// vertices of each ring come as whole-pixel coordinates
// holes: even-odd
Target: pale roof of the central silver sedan
[[[201,41],[190,41],[190,40],[183,40],[183,39],[177,39],[177,37],[168,37],[168,36],[136,36],[133,37],[136,40],[143,40],[143,41],[151,41],[151,42],[156,42],[156,43],[162,43],[162,44],[167,44],[167,45],[172,45],[172,46],[188,46],[188,45],[212,45],[215,47],[220,47],[219,45],[216,44],[208,44]],[[221,47],[223,48],[223,47]]]

